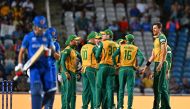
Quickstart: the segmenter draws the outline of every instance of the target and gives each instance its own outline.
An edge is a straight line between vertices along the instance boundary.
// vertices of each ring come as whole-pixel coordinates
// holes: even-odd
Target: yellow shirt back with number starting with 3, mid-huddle
[[[111,40],[102,41],[103,48],[101,54],[100,64],[109,64],[113,65],[112,55],[117,49],[115,42]]]

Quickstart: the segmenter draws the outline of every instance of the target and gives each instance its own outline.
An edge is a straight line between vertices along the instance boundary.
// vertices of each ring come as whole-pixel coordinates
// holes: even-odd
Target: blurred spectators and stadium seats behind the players
[[[146,59],[153,47],[152,23],[160,21],[173,52],[170,78],[172,94],[190,94],[190,1],[189,0],[0,0],[0,81],[15,76],[18,52],[24,35],[32,30],[35,15],[50,10],[51,26],[58,30],[58,41],[64,49],[70,34],[86,43],[91,31],[110,28],[113,40],[135,35],[135,44]],[[25,62],[26,62],[25,56]],[[144,63],[145,65],[145,63]],[[153,68],[153,66],[151,66]],[[28,92],[29,79],[22,76],[14,91]],[[137,73],[135,93],[151,94],[153,81]],[[81,92],[81,82],[77,91]],[[0,88],[1,89],[1,88]]]

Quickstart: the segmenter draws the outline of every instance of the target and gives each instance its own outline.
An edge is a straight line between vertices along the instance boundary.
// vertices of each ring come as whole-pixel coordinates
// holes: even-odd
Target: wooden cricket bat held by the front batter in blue
[[[40,48],[36,51],[36,53],[24,64],[22,71],[20,71],[21,69],[18,69],[17,67],[15,67],[15,72],[27,71],[38,60],[38,58],[44,53],[45,49],[46,47],[44,45],[41,45]],[[13,78],[13,80],[17,80],[18,77],[20,76],[19,74],[21,73],[18,73],[18,75],[16,75]]]

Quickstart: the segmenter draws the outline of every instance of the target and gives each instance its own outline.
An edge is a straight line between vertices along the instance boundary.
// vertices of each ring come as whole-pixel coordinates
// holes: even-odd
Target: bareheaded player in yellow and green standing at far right
[[[165,109],[171,109],[169,103],[169,94],[167,89],[167,80],[166,80],[166,72],[167,72],[167,39],[166,36],[161,32],[162,24],[160,22],[153,24],[153,37],[154,37],[154,48],[152,50],[152,55],[149,58],[146,66],[142,70],[144,73],[151,62],[155,63],[154,67],[154,81],[153,81],[153,89],[154,89],[154,104],[153,109],[159,109],[161,94],[163,98],[163,102],[165,103]]]

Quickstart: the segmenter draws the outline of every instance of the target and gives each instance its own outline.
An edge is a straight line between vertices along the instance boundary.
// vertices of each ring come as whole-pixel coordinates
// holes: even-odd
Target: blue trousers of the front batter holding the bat
[[[56,83],[53,80],[53,76],[49,69],[49,66],[43,64],[34,64],[30,70],[30,90],[32,96],[32,109],[41,109],[43,105],[46,105],[52,100],[55,93],[51,93],[56,90]],[[48,97],[42,97],[42,92]],[[52,108],[52,105],[49,107]]]

